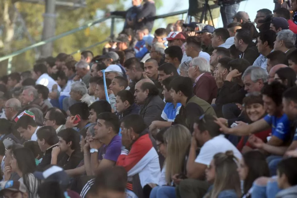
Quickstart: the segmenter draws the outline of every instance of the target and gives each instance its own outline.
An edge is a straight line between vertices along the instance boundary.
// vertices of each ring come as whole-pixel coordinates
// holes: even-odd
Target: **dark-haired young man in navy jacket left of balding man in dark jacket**
[[[115,102],[115,108],[117,110],[115,114],[118,115],[120,120],[127,115],[139,113],[140,106],[134,103],[134,96],[128,90],[119,91]]]

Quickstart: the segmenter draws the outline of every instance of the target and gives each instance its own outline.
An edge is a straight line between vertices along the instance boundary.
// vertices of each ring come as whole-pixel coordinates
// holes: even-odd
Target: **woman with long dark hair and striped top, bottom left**
[[[26,186],[29,198],[39,198],[37,195],[39,181],[32,174],[36,171],[36,163],[32,151],[28,148],[15,149],[10,160],[10,166],[11,171],[16,172],[21,177],[19,181]]]

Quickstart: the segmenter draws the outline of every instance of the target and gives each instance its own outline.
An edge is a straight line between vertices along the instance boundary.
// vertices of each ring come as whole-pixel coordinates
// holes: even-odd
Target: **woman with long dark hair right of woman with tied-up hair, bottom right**
[[[251,198],[252,185],[257,178],[270,176],[265,155],[260,151],[249,151],[243,154],[237,171],[243,182],[242,198]]]

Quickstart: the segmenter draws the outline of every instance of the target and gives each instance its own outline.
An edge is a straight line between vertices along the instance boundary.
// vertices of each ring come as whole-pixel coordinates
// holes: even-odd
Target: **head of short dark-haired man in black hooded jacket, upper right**
[[[236,34],[234,36],[234,45],[236,49],[238,49],[241,52],[244,52],[248,45],[252,42],[253,39],[250,36],[250,31],[246,29],[236,30]]]

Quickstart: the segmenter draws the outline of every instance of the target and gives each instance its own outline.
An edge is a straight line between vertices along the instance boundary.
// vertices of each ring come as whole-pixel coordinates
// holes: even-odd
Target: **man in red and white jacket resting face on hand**
[[[141,115],[131,114],[123,119],[123,148],[116,163],[128,172],[127,189],[138,197],[143,196],[145,185],[158,183],[161,174],[159,157],[146,128]]]

